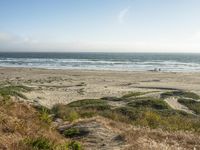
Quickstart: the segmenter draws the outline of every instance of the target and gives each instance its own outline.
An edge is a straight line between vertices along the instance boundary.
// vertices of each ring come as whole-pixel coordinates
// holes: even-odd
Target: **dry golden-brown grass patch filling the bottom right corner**
[[[123,133],[129,146],[127,150],[133,149],[170,149],[170,150],[193,150],[200,148],[200,137],[186,132],[166,132],[148,128],[132,128]]]

